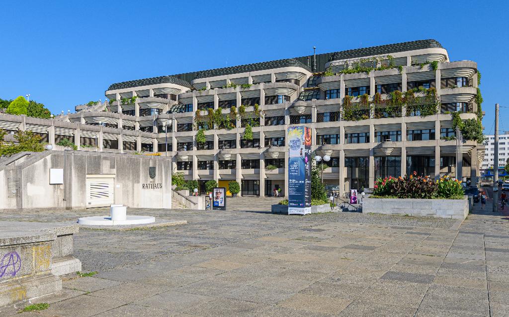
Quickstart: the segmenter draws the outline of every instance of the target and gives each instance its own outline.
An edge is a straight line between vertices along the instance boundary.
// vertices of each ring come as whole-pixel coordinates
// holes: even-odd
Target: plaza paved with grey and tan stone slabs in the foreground
[[[184,226],[80,229],[75,256],[40,312],[0,316],[507,316],[509,216],[488,205],[461,221],[333,212],[271,214],[276,199],[228,211],[131,210]],[[2,213],[75,221],[105,210]]]

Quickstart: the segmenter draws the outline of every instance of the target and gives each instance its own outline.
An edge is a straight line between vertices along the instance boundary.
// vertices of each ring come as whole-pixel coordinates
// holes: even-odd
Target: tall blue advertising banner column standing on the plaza
[[[288,128],[288,214],[311,212],[311,129]]]

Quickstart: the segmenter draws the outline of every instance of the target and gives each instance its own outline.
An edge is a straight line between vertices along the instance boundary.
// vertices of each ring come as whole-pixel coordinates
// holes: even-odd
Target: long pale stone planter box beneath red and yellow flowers
[[[363,213],[400,214],[453,219],[468,215],[468,199],[364,198]]]

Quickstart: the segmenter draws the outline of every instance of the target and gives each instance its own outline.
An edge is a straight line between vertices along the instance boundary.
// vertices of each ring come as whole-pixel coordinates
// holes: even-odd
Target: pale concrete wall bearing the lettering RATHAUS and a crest
[[[65,153],[65,154],[64,154]],[[64,164],[64,155],[67,162]],[[19,179],[18,198],[0,192],[0,209],[86,208],[87,175],[115,178],[115,203],[129,207],[171,208],[171,159],[105,152],[45,151],[16,165],[0,167],[0,183],[8,188],[9,179]],[[64,184],[49,184],[49,169],[64,168]],[[149,167],[156,168],[154,179]],[[162,188],[144,188],[143,184]],[[156,186],[159,187],[159,186]]]

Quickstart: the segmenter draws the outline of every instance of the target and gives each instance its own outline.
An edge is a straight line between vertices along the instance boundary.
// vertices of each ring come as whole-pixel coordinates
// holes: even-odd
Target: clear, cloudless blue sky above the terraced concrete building
[[[509,107],[509,4],[410,1],[23,1],[0,18],[0,98],[53,113],[111,83],[418,39],[482,72],[485,133]],[[509,130],[502,108],[501,130]],[[507,121],[507,122],[505,122]],[[490,130],[491,129],[491,130]]]

